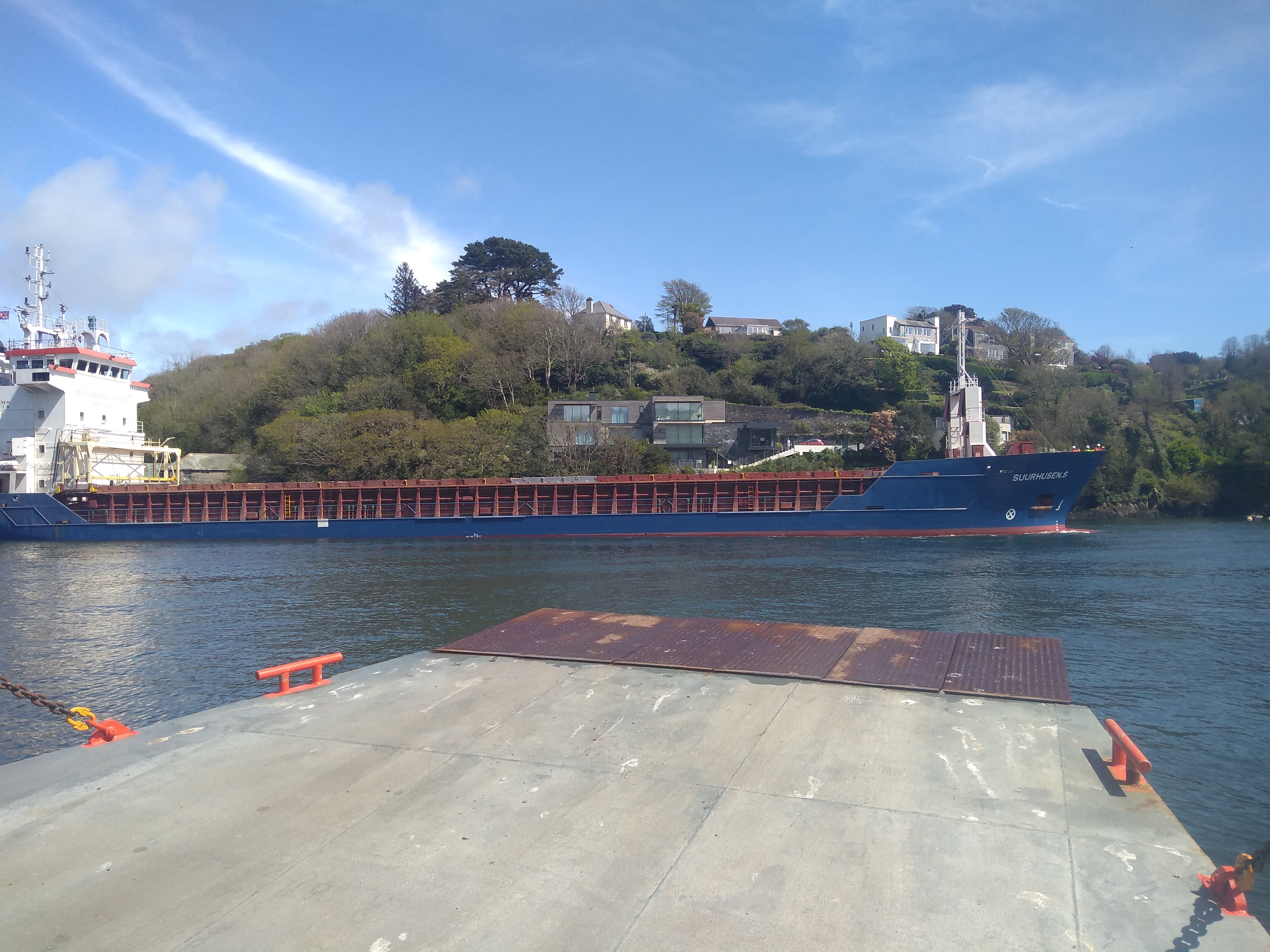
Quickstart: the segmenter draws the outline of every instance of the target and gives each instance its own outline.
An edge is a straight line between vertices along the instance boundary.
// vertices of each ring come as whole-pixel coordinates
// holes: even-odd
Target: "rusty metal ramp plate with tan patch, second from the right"
[[[956,635],[939,631],[861,628],[824,680],[939,691],[955,646]]]

